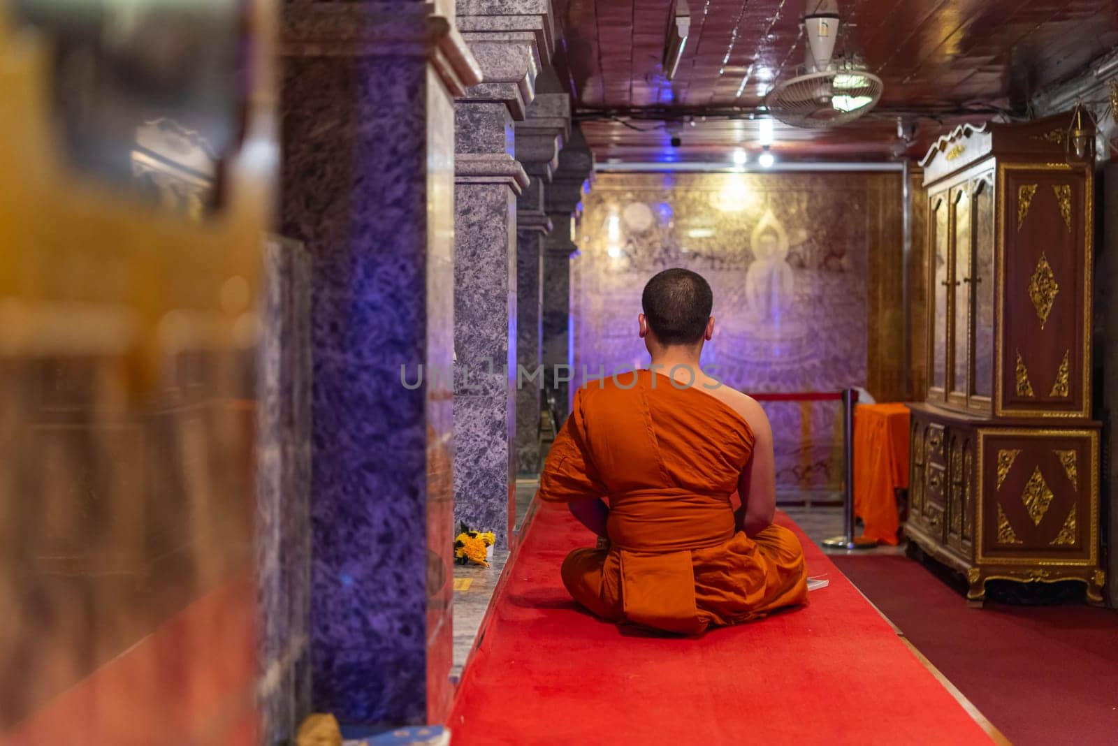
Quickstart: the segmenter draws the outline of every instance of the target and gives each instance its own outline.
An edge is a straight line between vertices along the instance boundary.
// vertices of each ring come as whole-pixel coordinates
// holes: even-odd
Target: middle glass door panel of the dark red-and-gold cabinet
[[[950,395],[958,404],[966,404],[970,390],[970,192],[968,185],[951,190],[951,221],[955,238],[955,256],[950,268],[950,279],[946,287],[950,327],[948,350],[950,361]]]

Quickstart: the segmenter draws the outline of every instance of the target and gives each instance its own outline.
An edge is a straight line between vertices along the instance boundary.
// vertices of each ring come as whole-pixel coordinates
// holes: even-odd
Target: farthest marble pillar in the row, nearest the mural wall
[[[543,365],[546,385],[555,396],[561,424],[570,405],[574,371],[574,337],[570,318],[570,257],[578,247],[578,219],[582,195],[594,175],[594,153],[578,127],[559,152],[559,164],[551,178],[546,207],[553,229],[544,239],[543,251]]]

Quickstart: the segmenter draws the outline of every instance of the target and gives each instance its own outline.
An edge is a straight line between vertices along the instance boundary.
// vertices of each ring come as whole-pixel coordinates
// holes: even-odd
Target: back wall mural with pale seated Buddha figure
[[[574,261],[576,376],[647,365],[641,291],[670,267],[714,291],[704,369],[746,392],[865,385],[866,185],[877,174],[600,174]],[[781,489],[837,489],[836,402],[773,402]]]

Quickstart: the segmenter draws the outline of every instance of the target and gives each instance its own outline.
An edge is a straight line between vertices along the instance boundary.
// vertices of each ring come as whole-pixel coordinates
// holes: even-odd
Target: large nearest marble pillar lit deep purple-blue
[[[313,262],[312,707],[442,720],[453,562],[453,97],[444,2],[285,3],[282,232]],[[419,376],[423,365],[425,375]]]

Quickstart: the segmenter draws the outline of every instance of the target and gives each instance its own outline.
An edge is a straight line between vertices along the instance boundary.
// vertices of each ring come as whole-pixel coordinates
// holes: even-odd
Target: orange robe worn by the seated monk
[[[603,619],[684,634],[806,602],[795,534],[736,527],[730,495],[752,453],[749,424],[700,388],[650,371],[622,388],[632,381],[576,393],[540,477],[541,499],[609,504],[610,548],[563,562],[571,595]]]

